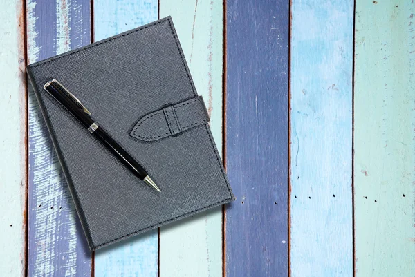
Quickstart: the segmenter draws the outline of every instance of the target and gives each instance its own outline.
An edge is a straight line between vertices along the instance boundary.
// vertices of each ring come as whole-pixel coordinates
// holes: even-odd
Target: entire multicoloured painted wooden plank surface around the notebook
[[[414,276],[414,11],[3,1],[0,276]],[[167,15],[237,201],[91,254],[24,66]]]

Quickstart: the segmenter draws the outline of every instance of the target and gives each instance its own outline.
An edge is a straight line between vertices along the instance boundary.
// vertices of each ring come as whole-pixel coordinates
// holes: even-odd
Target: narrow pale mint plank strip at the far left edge
[[[23,276],[26,248],[26,76],[24,6],[0,8],[0,276]]]

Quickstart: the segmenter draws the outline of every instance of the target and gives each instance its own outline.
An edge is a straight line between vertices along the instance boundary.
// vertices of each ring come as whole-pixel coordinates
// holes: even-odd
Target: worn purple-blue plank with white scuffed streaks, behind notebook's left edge
[[[89,44],[89,0],[26,2],[28,63]],[[36,97],[28,95],[29,276],[91,276],[91,253]]]

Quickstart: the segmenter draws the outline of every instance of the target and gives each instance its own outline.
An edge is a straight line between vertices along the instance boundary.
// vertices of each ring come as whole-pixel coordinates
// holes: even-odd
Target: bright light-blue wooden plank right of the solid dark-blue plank
[[[291,276],[353,276],[353,1],[291,11]]]

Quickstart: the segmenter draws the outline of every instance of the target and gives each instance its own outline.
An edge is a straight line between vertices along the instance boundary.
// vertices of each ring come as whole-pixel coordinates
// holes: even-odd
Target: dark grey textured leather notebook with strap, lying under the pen
[[[234,200],[170,17],[27,69],[91,251]],[[48,95],[51,79],[80,99],[161,193]]]

